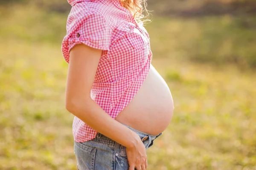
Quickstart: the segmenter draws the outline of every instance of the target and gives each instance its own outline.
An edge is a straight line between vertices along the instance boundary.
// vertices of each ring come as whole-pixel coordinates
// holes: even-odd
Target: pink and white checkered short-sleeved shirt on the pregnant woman
[[[69,63],[70,49],[78,43],[102,49],[90,96],[112,118],[134,98],[148,75],[152,52],[143,24],[137,23],[119,0],[68,0],[67,35],[61,51]],[[75,116],[76,142],[95,138],[93,130]]]

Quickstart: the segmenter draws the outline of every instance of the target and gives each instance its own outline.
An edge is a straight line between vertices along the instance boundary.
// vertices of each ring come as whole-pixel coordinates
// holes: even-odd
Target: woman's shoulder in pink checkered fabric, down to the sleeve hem
[[[76,44],[109,50],[112,29],[105,4],[82,1],[72,6],[67,18],[67,35],[62,42],[64,58],[69,62],[69,52]]]

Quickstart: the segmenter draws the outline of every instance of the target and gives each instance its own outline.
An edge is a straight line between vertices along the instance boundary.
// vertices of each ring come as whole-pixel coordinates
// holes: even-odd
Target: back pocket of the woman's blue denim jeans
[[[88,147],[79,142],[74,145],[77,165],[79,170],[94,170],[96,148]]]

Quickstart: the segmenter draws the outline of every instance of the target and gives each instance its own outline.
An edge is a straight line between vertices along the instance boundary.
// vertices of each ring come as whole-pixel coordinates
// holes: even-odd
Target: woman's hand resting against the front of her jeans
[[[136,143],[132,147],[126,147],[129,170],[146,170],[148,167],[146,148],[140,136],[134,132]]]

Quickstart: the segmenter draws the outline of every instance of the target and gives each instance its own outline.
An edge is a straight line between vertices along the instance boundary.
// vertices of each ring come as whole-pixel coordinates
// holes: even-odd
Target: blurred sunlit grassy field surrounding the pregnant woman
[[[256,170],[256,1],[148,0],[175,101],[148,170]],[[76,170],[64,107],[66,0],[0,0],[0,170]]]

